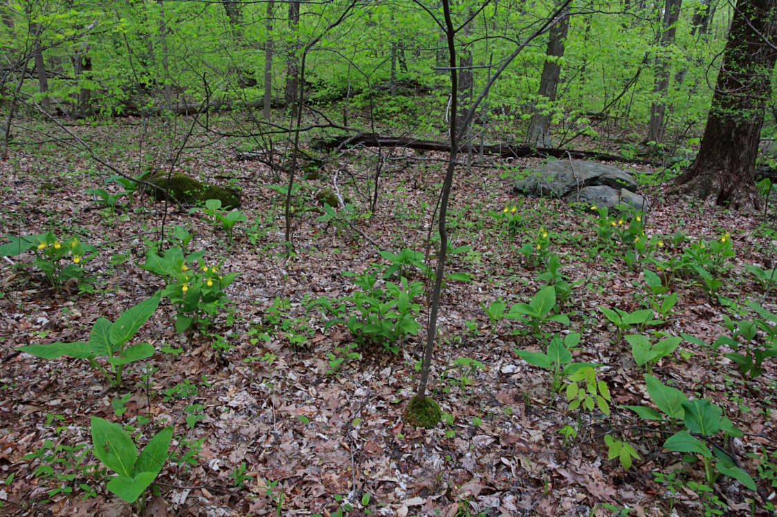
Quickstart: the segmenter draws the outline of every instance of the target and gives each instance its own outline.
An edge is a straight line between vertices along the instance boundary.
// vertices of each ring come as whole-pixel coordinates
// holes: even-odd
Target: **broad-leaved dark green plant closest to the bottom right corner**
[[[706,442],[696,438],[696,435],[710,437],[721,431],[732,437],[743,435],[728,418],[723,416],[723,410],[706,398],[688,400],[688,397],[685,397],[685,394],[680,390],[668,387],[648,373],[644,375],[644,378],[650,400],[668,417],[667,423],[677,429],[678,422],[681,422],[682,429],[664,441],[664,449],[701,456],[706,481],[709,485],[713,485],[717,477],[723,474],[733,477],[745,487],[755,491],[755,483],[750,475],[737,467],[734,460],[723,449],[715,447],[714,452],[710,451]],[[635,411],[642,418],[664,420],[664,417],[653,408],[645,406],[625,407]]]

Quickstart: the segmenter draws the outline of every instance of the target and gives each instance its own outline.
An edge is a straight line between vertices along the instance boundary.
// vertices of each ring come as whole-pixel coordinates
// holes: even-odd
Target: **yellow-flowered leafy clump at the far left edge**
[[[92,290],[92,279],[85,276],[84,265],[97,255],[94,246],[75,236],[59,238],[54,231],[25,237],[6,235],[6,238],[10,242],[0,246],[0,255],[16,256],[32,250],[35,254],[33,265],[44,272],[51,286],[59,287],[75,279],[79,289]]]

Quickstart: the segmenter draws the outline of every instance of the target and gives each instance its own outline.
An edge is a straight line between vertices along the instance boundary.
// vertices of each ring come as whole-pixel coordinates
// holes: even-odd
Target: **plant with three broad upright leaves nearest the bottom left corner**
[[[138,455],[138,448],[121,425],[92,417],[92,452],[113,470],[106,488],[128,503],[137,501],[162,471],[172,439],[172,427],[159,431]]]

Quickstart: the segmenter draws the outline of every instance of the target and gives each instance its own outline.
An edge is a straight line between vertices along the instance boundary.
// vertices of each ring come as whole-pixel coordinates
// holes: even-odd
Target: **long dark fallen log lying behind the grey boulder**
[[[419,140],[408,137],[392,137],[376,133],[359,133],[355,135],[340,135],[337,137],[317,138],[311,142],[311,147],[319,151],[332,151],[333,149],[342,149],[343,147],[355,147],[364,145],[366,147],[407,147],[418,151],[444,151],[450,152],[451,146],[446,142]],[[479,153],[480,146],[472,145],[472,151]],[[466,145],[459,147],[458,152],[467,152]],[[618,154],[600,153],[597,151],[574,151],[570,149],[556,149],[553,147],[529,147],[522,144],[489,144],[483,146],[484,154],[493,154],[500,158],[570,158],[586,159],[598,161],[622,161],[637,165],[658,165],[649,160],[640,160],[638,158],[626,158]]]

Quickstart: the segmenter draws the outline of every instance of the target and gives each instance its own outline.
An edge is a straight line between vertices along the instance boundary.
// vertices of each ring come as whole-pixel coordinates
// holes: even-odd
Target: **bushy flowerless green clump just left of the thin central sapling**
[[[405,277],[399,283],[378,284],[385,276],[381,269],[373,268],[363,274],[343,273],[350,276],[361,288],[349,297],[329,300],[320,297],[308,307],[323,307],[333,316],[325,328],[333,324],[345,324],[360,342],[382,345],[385,349],[399,353],[399,344],[410,335],[416,335],[420,325],[416,317],[420,305],[414,300],[423,294],[423,283],[409,282]]]

